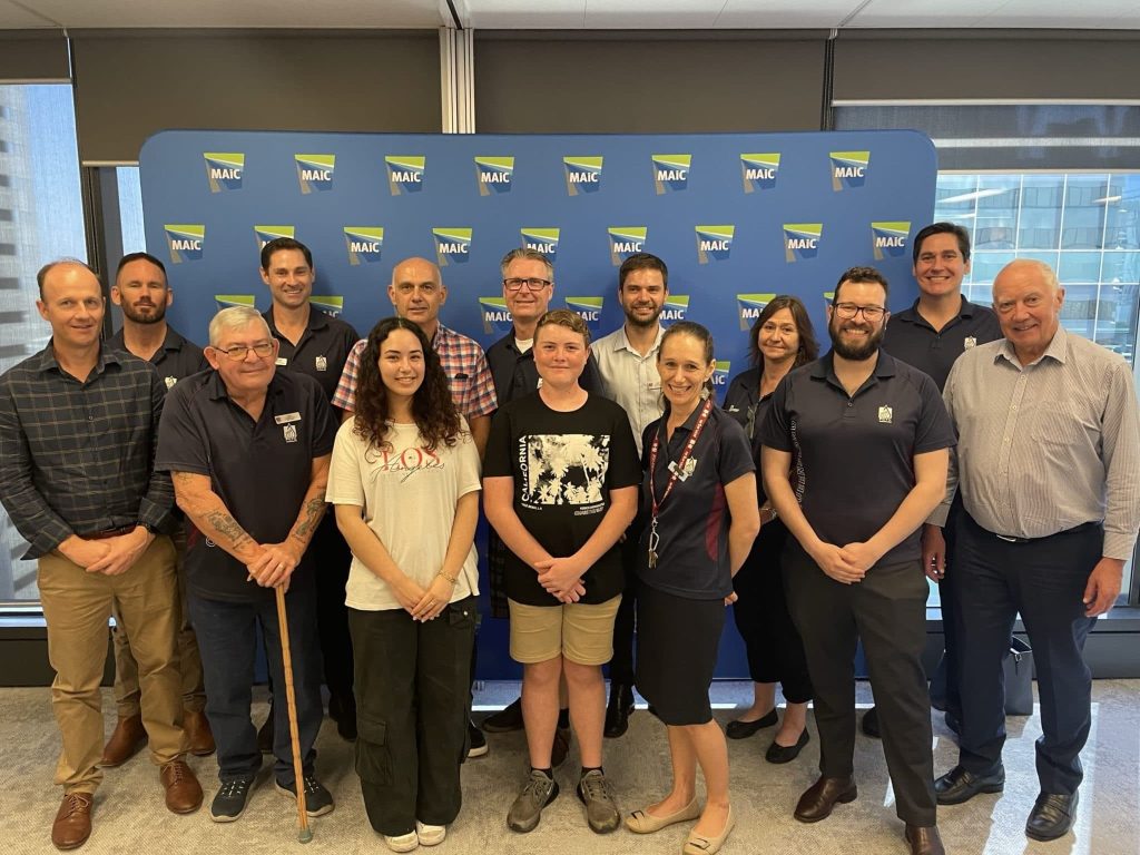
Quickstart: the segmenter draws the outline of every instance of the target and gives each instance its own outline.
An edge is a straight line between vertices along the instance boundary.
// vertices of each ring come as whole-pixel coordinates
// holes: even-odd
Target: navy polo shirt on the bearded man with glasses
[[[950,448],[954,431],[935,382],[880,350],[854,396],[836,377],[830,352],[789,373],[772,393],[760,439],[792,454],[804,515],[820,539],[845,546],[894,516],[914,487],[914,455]],[[920,555],[915,529],[880,561]]]

